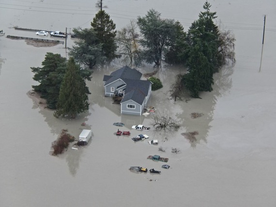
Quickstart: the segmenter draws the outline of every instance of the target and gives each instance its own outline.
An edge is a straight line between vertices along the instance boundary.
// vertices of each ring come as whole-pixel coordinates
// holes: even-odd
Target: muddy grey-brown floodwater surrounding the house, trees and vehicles
[[[205,0],[113,0],[108,6],[117,30],[151,8],[164,18],[179,20],[187,30]],[[30,67],[41,66],[46,52],[68,58],[65,44],[34,47],[25,40],[0,36],[0,203],[1,207],[275,207],[276,206],[276,1],[210,1],[226,29],[236,37],[236,64],[214,76],[214,90],[202,99],[174,102],[169,87],[183,69],[166,64],[156,77],[164,87],[154,91],[150,106],[168,111],[181,123],[176,132],[147,131],[150,139],[134,143],[132,125],[150,124],[150,116],[121,115],[120,106],[104,97],[103,76],[123,65],[94,69],[87,82],[90,109],[76,119],[56,119],[53,111],[30,98]],[[36,37],[13,27],[71,32],[90,27],[96,14],[90,0],[1,1],[5,35]],[[262,48],[263,15],[266,31]],[[55,39],[53,37],[41,37]],[[74,39],[67,39],[72,47]],[[137,68],[153,73],[152,65]],[[203,114],[193,118],[192,113]],[[116,136],[114,122],[131,136]],[[82,125],[85,123],[85,126]],[[92,141],[61,156],[50,155],[62,129],[78,137],[92,129]],[[120,128],[121,129],[121,128]],[[189,133],[194,137],[188,138]],[[195,132],[198,132],[195,133]],[[158,151],[162,147],[163,151]],[[178,153],[172,153],[172,148]],[[169,158],[164,163],[148,155]],[[133,173],[130,166],[161,171]]]

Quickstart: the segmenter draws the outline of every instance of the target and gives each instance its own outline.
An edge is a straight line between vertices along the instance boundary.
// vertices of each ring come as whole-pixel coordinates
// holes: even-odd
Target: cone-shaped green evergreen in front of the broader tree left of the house
[[[89,90],[85,80],[81,78],[80,67],[75,63],[73,57],[69,58],[66,72],[61,83],[60,95],[55,117],[70,116],[75,118],[77,114],[89,110]]]

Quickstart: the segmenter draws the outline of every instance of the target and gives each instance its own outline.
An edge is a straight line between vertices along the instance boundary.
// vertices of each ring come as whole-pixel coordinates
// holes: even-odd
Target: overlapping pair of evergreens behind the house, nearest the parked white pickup
[[[89,29],[73,29],[80,40],[70,48],[69,55],[78,63],[88,65],[92,69],[95,65],[110,63],[119,56],[116,54],[116,25],[110,16],[104,10],[99,11],[93,18],[91,26]]]

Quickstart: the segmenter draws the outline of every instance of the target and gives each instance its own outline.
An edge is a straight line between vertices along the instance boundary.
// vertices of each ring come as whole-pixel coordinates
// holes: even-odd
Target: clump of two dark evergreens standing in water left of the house
[[[32,88],[46,99],[47,108],[56,110],[56,117],[75,118],[89,109],[90,92],[85,80],[91,80],[92,71],[82,69],[73,57],[67,61],[60,54],[47,52],[42,67],[31,67],[31,70],[33,80],[40,83]]]

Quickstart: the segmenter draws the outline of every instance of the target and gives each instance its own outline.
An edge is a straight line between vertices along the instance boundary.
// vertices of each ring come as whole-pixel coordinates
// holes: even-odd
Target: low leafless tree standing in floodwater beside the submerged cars
[[[164,111],[155,111],[155,113],[152,115],[151,125],[153,125],[155,129],[163,128],[177,130],[180,127],[176,117]]]

